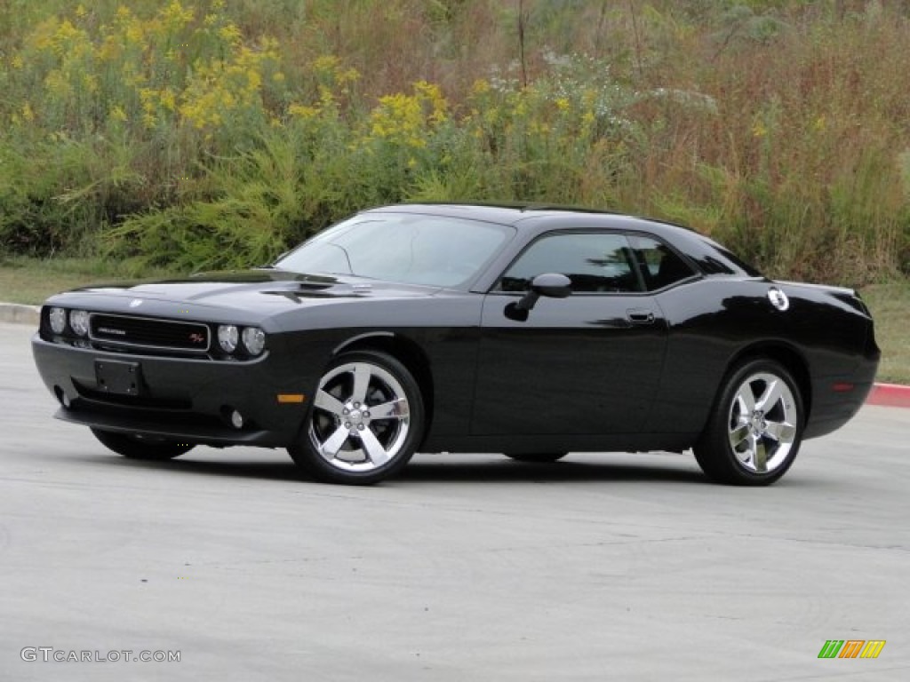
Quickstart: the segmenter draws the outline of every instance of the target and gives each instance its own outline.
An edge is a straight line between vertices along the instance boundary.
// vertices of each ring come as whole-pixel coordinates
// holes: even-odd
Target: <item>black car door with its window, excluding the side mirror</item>
[[[510,314],[534,276],[571,280]],[[554,232],[526,248],[485,296],[471,433],[599,435],[637,431],[660,381],[667,326],[630,240]]]

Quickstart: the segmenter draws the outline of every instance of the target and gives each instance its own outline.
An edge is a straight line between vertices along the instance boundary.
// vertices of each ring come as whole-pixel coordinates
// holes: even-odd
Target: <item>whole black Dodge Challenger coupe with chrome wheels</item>
[[[127,457],[287,447],[375,483],[414,452],[692,448],[763,486],[862,406],[878,365],[849,289],[776,282],[710,239],[548,206],[385,206],[268,267],[47,300],[35,362]]]

